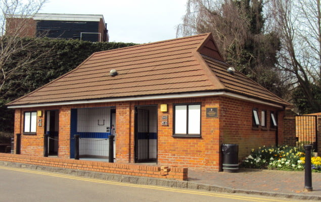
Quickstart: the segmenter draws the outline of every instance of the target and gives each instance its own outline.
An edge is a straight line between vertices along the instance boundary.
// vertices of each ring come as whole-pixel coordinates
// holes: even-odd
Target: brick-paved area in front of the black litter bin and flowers
[[[276,171],[240,168],[237,173],[189,169],[189,181],[239,190],[321,197],[321,173],[312,173],[311,192],[304,192],[304,171]]]

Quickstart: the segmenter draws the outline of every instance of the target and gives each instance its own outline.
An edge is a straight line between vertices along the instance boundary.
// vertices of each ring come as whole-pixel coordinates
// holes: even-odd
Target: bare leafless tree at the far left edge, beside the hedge
[[[45,56],[31,57],[38,41],[30,28],[35,27],[32,17],[46,1],[0,0],[0,92],[15,72]]]

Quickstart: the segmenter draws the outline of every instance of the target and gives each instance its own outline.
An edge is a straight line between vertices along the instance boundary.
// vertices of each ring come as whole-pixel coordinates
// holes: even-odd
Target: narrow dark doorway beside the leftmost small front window
[[[51,110],[45,113],[46,133],[49,135],[48,155],[58,155],[59,145],[59,111]]]

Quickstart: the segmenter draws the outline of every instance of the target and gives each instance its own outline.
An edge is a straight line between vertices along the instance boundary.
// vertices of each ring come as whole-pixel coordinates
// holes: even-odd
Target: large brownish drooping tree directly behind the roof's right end
[[[285,82],[275,70],[280,41],[264,29],[263,0],[188,0],[177,36],[212,32],[227,63],[283,96]]]

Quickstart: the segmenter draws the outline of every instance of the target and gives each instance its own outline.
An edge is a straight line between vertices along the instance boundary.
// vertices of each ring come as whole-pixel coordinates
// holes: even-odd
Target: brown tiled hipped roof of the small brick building
[[[217,90],[289,105],[243,74],[228,74],[222,61],[210,33],[98,52],[8,105]]]

